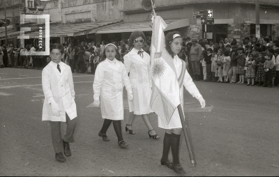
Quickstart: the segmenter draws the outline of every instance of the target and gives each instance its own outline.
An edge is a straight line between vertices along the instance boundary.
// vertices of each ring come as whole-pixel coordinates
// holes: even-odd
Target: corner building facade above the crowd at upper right
[[[213,25],[206,25],[206,38],[218,42],[220,38],[236,38],[241,42],[246,36],[255,36],[255,0],[161,0],[155,1],[156,13],[164,20],[188,19],[189,24],[176,29],[183,36],[204,38],[204,25],[193,13],[200,10],[213,10]],[[146,22],[151,20],[151,10],[142,8],[142,0],[125,0],[124,22]],[[278,36],[279,1],[260,0],[261,36]]]

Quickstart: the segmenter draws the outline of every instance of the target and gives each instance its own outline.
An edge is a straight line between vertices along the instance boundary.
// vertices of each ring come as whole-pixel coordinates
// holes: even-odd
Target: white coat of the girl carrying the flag
[[[182,61],[179,59],[179,56],[174,56],[174,66],[176,69],[177,77],[179,77],[182,69]],[[193,95],[195,98],[199,98],[202,95],[199,93],[199,90],[197,89],[197,86],[194,84],[192,77],[190,77],[188,71],[186,70],[185,76],[183,79],[183,86],[185,86],[186,90]],[[180,88],[180,100],[181,100],[181,106],[183,107],[183,86]],[[169,121],[169,124],[167,124],[167,121],[165,118],[160,118],[158,116],[158,127],[164,128],[164,129],[174,129],[174,128],[182,128],[181,125],[181,119],[179,116],[179,111],[176,108],[174,111],[174,114],[172,114],[172,118]]]

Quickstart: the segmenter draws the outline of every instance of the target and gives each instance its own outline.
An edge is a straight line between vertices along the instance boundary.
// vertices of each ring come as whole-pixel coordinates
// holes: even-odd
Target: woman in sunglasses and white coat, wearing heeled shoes
[[[128,101],[130,116],[126,124],[126,132],[135,134],[132,129],[136,115],[141,115],[149,129],[150,138],[160,139],[153,129],[148,114],[151,113],[149,102],[151,99],[150,56],[142,49],[146,38],[142,31],[134,31],[129,38],[130,52],[124,56],[127,73],[130,72],[134,99]]]

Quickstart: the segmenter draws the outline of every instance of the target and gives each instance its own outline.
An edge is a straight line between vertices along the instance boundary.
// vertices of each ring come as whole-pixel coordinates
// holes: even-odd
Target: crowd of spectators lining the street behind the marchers
[[[62,61],[75,73],[93,74],[102,59],[103,47],[107,43],[118,46],[123,56],[130,51],[128,40],[105,40],[80,43],[63,43],[65,54]],[[144,51],[150,54],[151,37],[144,41]],[[44,68],[50,56],[25,56],[22,52],[45,51],[34,45],[25,48],[12,44],[0,46],[0,68]],[[237,42],[232,38],[220,38],[218,43],[207,39],[183,38],[179,57],[186,61],[187,70],[194,80],[204,82],[238,83],[258,86],[279,84],[279,39],[249,38]]]

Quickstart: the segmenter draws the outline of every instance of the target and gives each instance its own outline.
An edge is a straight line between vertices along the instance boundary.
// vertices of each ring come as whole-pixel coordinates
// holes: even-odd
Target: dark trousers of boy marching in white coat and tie
[[[52,132],[52,144],[54,147],[55,153],[63,153],[63,140],[66,142],[74,141],[74,132],[77,125],[77,118],[70,120],[68,114],[66,114],[66,133],[62,139],[61,135],[61,122],[60,121],[50,121],[50,128]]]

